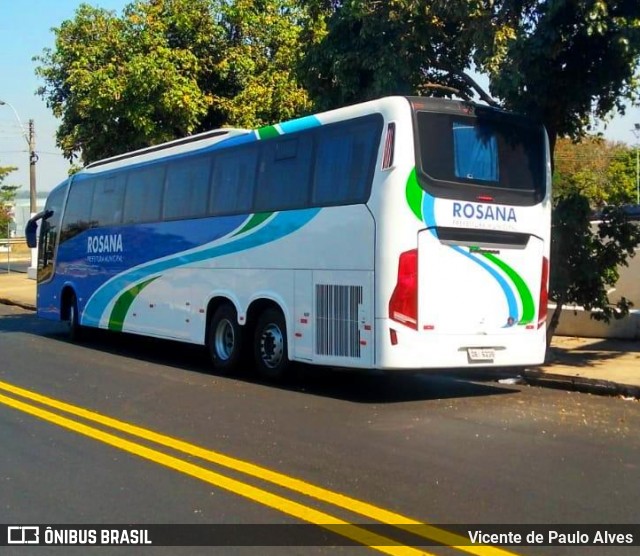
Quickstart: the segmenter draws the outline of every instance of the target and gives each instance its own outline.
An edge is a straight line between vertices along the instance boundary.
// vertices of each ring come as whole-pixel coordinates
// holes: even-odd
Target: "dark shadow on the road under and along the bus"
[[[74,345],[69,342],[66,328],[60,323],[39,321],[31,315],[4,317],[2,322],[0,331],[33,333]],[[215,373],[202,346],[95,329],[84,331],[80,345],[104,354],[180,371],[362,404],[496,396],[515,394],[520,389],[517,385],[505,387],[498,384],[499,375],[481,369],[477,373],[476,370],[382,373],[301,364],[294,366],[292,376],[286,382],[274,384],[258,377],[250,367],[232,376]],[[513,373],[507,372],[504,376],[513,376]]]

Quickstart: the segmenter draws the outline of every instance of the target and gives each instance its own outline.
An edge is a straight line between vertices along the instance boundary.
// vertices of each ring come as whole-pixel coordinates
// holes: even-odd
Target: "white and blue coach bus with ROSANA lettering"
[[[90,164],[27,235],[38,315],[71,336],[201,344],[279,379],[541,363],[550,219],[541,125],[388,97]]]

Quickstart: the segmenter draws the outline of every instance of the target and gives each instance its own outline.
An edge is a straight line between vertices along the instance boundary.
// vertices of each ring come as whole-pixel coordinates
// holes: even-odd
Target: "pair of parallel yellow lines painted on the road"
[[[403,546],[399,541],[394,541],[388,537],[376,534],[364,527],[354,525],[326,512],[314,509],[311,506],[290,500],[284,496],[269,492],[268,490],[252,486],[232,477],[228,477],[205,467],[190,463],[180,459],[179,457],[139,444],[135,441],[116,436],[110,432],[105,432],[86,423],[75,421],[69,417],[65,417],[64,415],[53,413],[45,408],[55,409],[68,415],[79,417],[90,423],[97,423],[104,427],[108,427],[116,432],[125,433],[132,437],[155,443],[160,447],[170,448],[189,456],[195,456],[201,460],[232,469],[236,472],[244,473],[245,475],[254,477],[261,481],[271,483],[279,487],[284,487],[295,493],[331,504],[337,508],[358,514],[375,522],[392,525],[397,529],[404,530],[412,533],[413,535],[427,539],[430,543],[435,542],[477,556],[513,556],[514,554],[492,546],[469,546],[469,539],[444,529],[424,524],[409,517],[385,510],[384,508],[312,485],[305,481],[289,477],[247,461],[232,458],[212,450],[207,450],[177,438],[172,438],[142,427],[119,421],[75,405],[43,396],[30,390],[19,388],[6,382],[0,381],[0,391],[18,396],[23,400],[29,400],[30,402],[40,404],[40,406],[36,406],[26,401],[0,394],[0,403],[8,407],[12,407],[18,411],[22,411],[23,413],[48,421],[49,423],[53,423],[65,429],[93,438],[94,440],[98,440],[104,444],[108,444],[125,452],[129,452],[154,463],[163,465],[169,469],[179,471],[185,475],[189,475],[190,477],[199,479],[218,488],[243,496],[244,498],[278,510],[301,521],[317,525],[386,554],[394,556],[414,556],[428,553],[410,546]]]

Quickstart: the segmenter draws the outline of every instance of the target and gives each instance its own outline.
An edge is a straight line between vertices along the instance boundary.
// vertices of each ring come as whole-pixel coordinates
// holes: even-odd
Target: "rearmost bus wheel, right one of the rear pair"
[[[282,312],[266,309],[258,319],[254,336],[254,359],[258,374],[272,382],[288,377],[287,325]]]

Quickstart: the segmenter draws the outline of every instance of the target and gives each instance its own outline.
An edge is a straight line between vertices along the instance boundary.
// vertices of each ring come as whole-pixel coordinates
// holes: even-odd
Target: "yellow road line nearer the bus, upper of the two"
[[[467,539],[466,537],[461,537],[460,535],[457,535],[455,533],[446,531],[445,529],[424,524],[420,521],[416,521],[415,519],[411,519],[407,516],[386,510],[384,508],[377,507],[373,504],[369,504],[367,502],[363,502],[355,498],[351,498],[344,494],[332,492],[330,490],[327,490],[322,487],[318,487],[316,485],[312,485],[300,479],[296,479],[296,478],[284,475],[282,473],[278,473],[277,471],[272,471],[270,469],[255,465],[253,463],[235,459],[230,456],[221,454],[219,452],[207,450],[205,448],[196,446],[194,444],[190,444],[188,442],[179,440],[177,438],[172,438],[170,436],[159,434],[159,433],[144,429],[142,427],[138,427],[135,425],[131,425],[129,423],[125,423],[123,421],[119,421],[117,419],[113,419],[111,417],[106,417],[99,413],[95,413],[93,411],[89,411],[87,409],[83,409],[78,406],[67,404],[65,402],[61,402],[59,400],[55,400],[47,396],[43,396],[42,394],[38,394],[30,390],[19,388],[17,386],[8,384],[6,382],[0,381],[0,390],[5,390],[7,392],[11,392],[13,394],[22,396],[24,398],[39,402],[41,404],[48,405],[49,407],[54,407],[61,411],[65,411],[66,413],[70,413],[72,415],[82,417],[83,419],[87,419],[95,423],[100,423],[102,425],[111,427],[113,429],[119,430],[121,432],[125,432],[133,436],[137,436],[139,438],[144,438],[145,440],[149,440],[151,442],[161,444],[168,448],[172,448],[174,450],[184,452],[186,454],[198,457],[205,461],[209,461],[211,463],[215,463],[223,467],[228,467],[230,469],[240,471],[242,473],[245,473],[246,475],[250,475],[252,477],[261,479],[263,481],[267,481],[267,482],[276,484],[278,486],[288,488],[290,490],[304,494],[311,498],[321,500],[322,502],[333,504],[334,506],[339,506],[341,508],[346,508],[347,510],[353,513],[360,514],[364,517],[370,518],[375,521],[379,521],[381,523],[394,525],[399,529],[404,529],[415,535],[426,538],[430,541],[435,541],[445,546],[451,546],[453,548],[456,548],[463,552],[467,552],[469,554],[474,554],[476,556],[514,556],[515,555],[515,553],[513,552],[509,552],[507,550],[493,547],[493,546],[483,546],[483,545],[468,546],[469,539]],[[416,527],[416,526],[419,526],[419,527]]]

